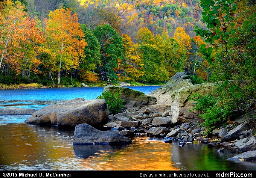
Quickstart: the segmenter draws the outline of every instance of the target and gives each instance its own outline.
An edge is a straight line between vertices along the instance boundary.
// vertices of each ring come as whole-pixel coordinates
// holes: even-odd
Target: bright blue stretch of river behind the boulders
[[[131,86],[129,88],[149,94],[160,86]],[[49,104],[61,103],[74,98],[96,99],[103,87],[72,87],[47,89],[0,90],[0,108],[7,106],[41,109]]]

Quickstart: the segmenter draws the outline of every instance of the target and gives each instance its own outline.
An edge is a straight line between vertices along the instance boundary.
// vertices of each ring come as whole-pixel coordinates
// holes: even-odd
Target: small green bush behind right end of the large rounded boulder
[[[108,110],[110,111],[111,114],[115,115],[117,113],[120,113],[122,109],[124,108],[123,102],[125,100],[122,100],[120,98],[122,94],[122,91],[116,91],[114,94],[112,94],[109,91],[103,91],[102,94],[97,97],[97,99],[104,99],[106,100]]]

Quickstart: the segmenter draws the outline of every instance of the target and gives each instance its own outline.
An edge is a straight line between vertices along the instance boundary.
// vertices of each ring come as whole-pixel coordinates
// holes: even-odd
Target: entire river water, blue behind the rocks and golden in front
[[[159,86],[131,87],[149,94]],[[95,99],[103,87],[0,91],[0,108],[41,109],[74,98]],[[1,113],[0,113],[1,114]],[[0,115],[0,170],[256,170],[255,162],[228,161],[227,147],[177,142],[147,136],[122,146],[72,145],[73,129],[25,124],[28,115]],[[224,153],[217,152],[224,148]]]

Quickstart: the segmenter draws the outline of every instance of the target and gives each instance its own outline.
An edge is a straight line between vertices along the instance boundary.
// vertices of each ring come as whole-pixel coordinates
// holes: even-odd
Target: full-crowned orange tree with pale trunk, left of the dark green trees
[[[76,14],[70,8],[59,8],[50,11],[46,19],[47,47],[55,56],[58,65],[58,84],[60,84],[61,69],[70,70],[79,65],[79,58],[84,56],[84,33],[79,26]]]

